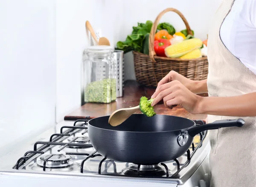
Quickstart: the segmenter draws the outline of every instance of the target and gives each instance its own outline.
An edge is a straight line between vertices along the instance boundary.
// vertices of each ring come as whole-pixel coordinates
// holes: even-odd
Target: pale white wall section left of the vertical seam
[[[55,125],[55,1],[0,0],[0,155]]]

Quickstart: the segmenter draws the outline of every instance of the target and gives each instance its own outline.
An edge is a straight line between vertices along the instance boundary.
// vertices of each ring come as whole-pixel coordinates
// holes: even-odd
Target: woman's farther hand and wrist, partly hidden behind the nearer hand
[[[160,80],[160,82],[158,82],[156,91],[161,85],[172,82],[174,80],[179,81],[186,88],[188,88],[189,91],[195,94],[207,93],[207,79],[202,81],[194,81],[178,74],[176,71],[170,71],[169,74],[167,74],[162,80]]]

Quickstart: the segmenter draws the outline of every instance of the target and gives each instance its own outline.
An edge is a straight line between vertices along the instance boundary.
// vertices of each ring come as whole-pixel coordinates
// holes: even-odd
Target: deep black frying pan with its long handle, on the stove
[[[88,122],[90,142],[108,159],[134,164],[158,164],[182,156],[193,138],[204,130],[242,127],[243,119],[219,120],[196,126],[195,122],[177,116],[133,114],[121,125],[108,124],[109,116]]]

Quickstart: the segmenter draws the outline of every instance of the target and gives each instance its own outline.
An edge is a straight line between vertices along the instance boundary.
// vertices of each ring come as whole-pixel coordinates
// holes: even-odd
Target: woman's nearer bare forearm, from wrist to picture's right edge
[[[256,116],[256,92],[231,97],[201,97],[198,113],[218,116]]]

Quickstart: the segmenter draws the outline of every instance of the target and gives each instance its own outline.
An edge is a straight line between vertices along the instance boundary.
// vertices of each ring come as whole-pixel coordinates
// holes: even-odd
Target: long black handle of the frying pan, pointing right
[[[242,127],[245,124],[244,120],[239,119],[227,119],[227,120],[217,120],[206,125],[193,126],[187,129],[187,132],[190,136],[194,137],[198,133],[201,133],[204,130],[219,129],[222,127]]]

